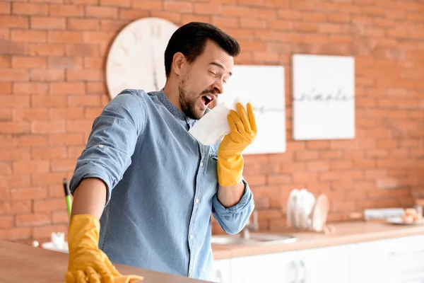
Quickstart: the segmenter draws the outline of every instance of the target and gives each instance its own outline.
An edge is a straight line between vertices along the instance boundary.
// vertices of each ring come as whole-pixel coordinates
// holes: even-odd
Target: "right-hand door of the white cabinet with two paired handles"
[[[299,283],[354,283],[355,245],[302,250],[297,268]]]

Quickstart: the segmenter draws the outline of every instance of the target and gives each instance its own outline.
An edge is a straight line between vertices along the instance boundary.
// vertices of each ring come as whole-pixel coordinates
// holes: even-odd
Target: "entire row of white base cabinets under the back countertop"
[[[424,283],[424,235],[216,260],[217,283]]]

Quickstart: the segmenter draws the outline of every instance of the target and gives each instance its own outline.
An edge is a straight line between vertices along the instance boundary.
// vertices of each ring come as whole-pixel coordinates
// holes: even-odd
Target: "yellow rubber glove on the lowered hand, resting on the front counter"
[[[90,214],[77,214],[69,225],[69,262],[66,283],[129,283],[142,280],[136,275],[123,276],[98,248],[100,222]]]

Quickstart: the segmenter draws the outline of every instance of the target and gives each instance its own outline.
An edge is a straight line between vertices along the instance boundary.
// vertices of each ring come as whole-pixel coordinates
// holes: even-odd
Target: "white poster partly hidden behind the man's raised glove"
[[[243,154],[285,152],[284,67],[235,65],[217,103],[237,98],[252,103],[258,129]]]

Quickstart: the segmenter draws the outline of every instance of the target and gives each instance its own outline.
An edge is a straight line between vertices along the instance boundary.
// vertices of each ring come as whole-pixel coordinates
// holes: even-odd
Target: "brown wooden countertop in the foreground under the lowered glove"
[[[61,283],[65,281],[68,255],[18,243],[0,241],[0,282]],[[122,275],[140,275],[141,283],[201,283],[202,280],[115,265]]]

